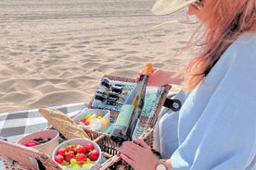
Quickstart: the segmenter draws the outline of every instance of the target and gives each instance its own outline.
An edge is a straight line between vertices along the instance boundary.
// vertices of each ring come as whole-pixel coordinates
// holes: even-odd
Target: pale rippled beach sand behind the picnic
[[[177,22],[186,10],[154,16],[154,2],[1,1],[0,113],[89,103],[104,75],[134,78],[147,62],[181,68],[173,55],[196,27]]]

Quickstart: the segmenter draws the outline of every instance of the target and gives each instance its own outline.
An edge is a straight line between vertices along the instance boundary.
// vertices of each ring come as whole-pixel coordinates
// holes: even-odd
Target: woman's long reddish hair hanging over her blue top
[[[250,30],[255,23],[255,0],[208,0],[209,8],[204,7],[203,20],[207,20],[207,27],[196,40],[202,47],[201,52],[186,66],[184,76],[186,91],[193,90],[206,77],[211,67],[218,61],[228,46],[237,40],[237,37]],[[200,30],[200,29],[198,29]],[[203,41],[199,37],[204,37]]]

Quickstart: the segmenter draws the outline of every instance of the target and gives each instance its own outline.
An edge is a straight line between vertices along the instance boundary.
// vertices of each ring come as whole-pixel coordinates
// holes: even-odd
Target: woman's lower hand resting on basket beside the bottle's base
[[[128,164],[130,164],[134,170],[154,170],[159,160],[151,152],[147,143],[142,139],[134,141],[124,141],[120,148],[117,148],[120,152],[120,157]]]

